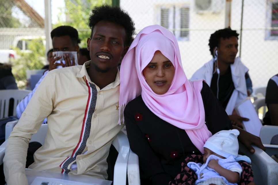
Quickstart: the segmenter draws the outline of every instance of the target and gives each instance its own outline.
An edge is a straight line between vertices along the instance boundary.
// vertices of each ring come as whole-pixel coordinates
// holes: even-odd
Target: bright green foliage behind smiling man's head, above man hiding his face
[[[91,35],[91,30],[88,27],[90,12],[94,6],[102,4],[110,4],[111,0],[65,0],[65,9],[61,9],[58,16],[58,23],[53,25],[53,28],[58,26],[68,25],[78,30],[81,43],[79,47],[87,47],[87,38]],[[62,14],[66,14],[67,22],[61,21]]]

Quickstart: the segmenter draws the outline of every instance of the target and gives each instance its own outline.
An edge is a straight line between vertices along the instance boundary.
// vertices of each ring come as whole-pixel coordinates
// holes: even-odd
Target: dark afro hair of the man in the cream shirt
[[[110,5],[94,7],[90,14],[88,23],[88,26],[92,30],[91,38],[94,26],[96,26],[96,24],[101,20],[106,20],[123,26],[125,28],[126,34],[124,45],[127,46],[131,44],[132,36],[136,34],[134,27],[135,24],[126,11],[124,11],[120,7],[112,7]]]

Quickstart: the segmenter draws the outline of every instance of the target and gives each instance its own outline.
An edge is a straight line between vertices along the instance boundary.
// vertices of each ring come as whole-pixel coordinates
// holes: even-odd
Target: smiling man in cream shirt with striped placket
[[[27,184],[28,141],[45,117],[49,125],[45,144],[29,168],[107,179],[108,151],[124,126],[118,124],[117,65],[135,28],[127,13],[108,5],[92,10],[89,26],[91,61],[48,72],[14,127],[3,159],[8,184]]]

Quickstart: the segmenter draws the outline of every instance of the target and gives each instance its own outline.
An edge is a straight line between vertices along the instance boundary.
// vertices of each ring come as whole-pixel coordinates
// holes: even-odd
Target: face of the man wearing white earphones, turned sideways
[[[220,38],[220,44],[218,48],[218,61],[224,63],[233,64],[238,51],[237,37],[232,36],[230,38]]]

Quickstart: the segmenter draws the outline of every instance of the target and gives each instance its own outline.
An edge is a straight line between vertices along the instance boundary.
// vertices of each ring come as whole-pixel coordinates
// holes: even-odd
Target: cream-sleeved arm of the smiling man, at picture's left
[[[25,165],[28,143],[42,121],[52,112],[52,83],[47,75],[37,88],[18,124],[8,138],[4,162],[7,184],[27,184]]]

